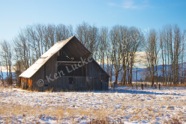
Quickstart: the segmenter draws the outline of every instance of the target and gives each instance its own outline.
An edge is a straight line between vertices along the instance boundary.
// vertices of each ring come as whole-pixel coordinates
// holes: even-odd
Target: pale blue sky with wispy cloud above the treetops
[[[186,0],[0,0],[0,41],[32,24],[82,22],[136,26],[145,31],[177,24],[186,29]]]

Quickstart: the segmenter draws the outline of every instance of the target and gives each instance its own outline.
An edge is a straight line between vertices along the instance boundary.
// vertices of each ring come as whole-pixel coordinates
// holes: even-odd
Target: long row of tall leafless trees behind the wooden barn
[[[161,31],[150,30],[146,35],[136,27],[116,25],[112,28],[82,23],[75,29],[72,26],[31,25],[22,29],[13,41],[3,41],[0,44],[0,65],[6,67],[7,77],[12,83],[12,66],[16,75],[26,70],[44,52],[56,42],[72,35],[92,52],[93,57],[110,75],[110,81],[121,82],[122,85],[132,85],[136,53],[145,52],[146,76],[152,82],[163,83],[184,82],[184,45],[186,32],[178,26],[166,26]],[[12,44],[12,45],[10,45]],[[159,71],[158,65],[162,68]],[[181,64],[181,65],[180,65]],[[1,69],[1,68],[0,68]],[[1,71],[1,80],[2,70]],[[121,78],[119,78],[121,77]],[[114,80],[113,80],[114,79]]]

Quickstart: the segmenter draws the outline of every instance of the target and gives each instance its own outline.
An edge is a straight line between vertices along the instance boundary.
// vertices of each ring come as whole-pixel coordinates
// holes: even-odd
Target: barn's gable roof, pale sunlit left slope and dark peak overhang
[[[70,41],[73,40],[75,40],[75,42],[71,42],[72,44],[67,45],[70,43]],[[71,48],[71,46],[75,46],[76,49]],[[66,40],[55,43],[33,65],[31,65],[26,71],[19,75],[19,77],[31,78],[53,55],[55,55],[62,48],[66,49],[66,51],[69,52],[68,54],[74,57],[88,57],[91,54],[91,52],[87,50],[75,36],[72,36]]]

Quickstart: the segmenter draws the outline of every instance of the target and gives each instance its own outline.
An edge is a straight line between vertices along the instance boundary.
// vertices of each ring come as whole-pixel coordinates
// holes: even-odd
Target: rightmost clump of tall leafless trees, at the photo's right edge
[[[163,28],[160,34],[160,53],[164,83],[177,84],[184,81],[184,45],[185,33],[178,26]]]

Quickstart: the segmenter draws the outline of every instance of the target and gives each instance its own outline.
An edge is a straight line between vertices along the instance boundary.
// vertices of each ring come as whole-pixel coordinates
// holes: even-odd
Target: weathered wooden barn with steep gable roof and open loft
[[[109,75],[75,37],[59,41],[20,76],[24,89],[108,90]]]

